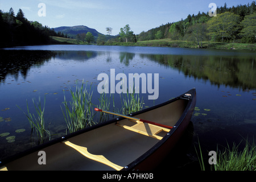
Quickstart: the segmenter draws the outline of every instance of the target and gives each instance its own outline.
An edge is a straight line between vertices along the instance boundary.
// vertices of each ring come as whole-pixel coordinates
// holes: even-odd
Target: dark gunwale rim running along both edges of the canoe
[[[184,118],[188,114],[188,112],[189,112],[189,110],[190,110],[190,108],[192,106],[193,100],[196,100],[196,98],[194,98],[194,96],[196,96],[195,88],[189,90],[186,93],[190,93],[191,94],[191,97],[189,99],[184,97],[184,94],[185,94],[184,93],[184,94],[181,94],[180,96],[178,96],[176,98],[173,98],[172,100],[163,102],[162,104],[159,104],[159,105],[156,105],[156,106],[152,106],[152,107],[148,107],[148,108],[143,109],[141,111],[137,111],[135,113],[128,114],[129,116],[135,116],[135,115],[146,113],[148,111],[157,109],[159,107],[171,104],[172,102],[175,102],[177,100],[181,100],[181,99],[187,99],[188,100],[187,106],[185,107],[185,109],[184,109],[183,113],[181,114],[181,117],[179,118],[179,120],[175,123],[174,127],[161,140],[159,140],[158,143],[156,143],[153,147],[151,147],[150,150],[145,152],[139,158],[135,159],[133,162],[128,164],[123,169],[121,169],[122,171],[130,171],[130,170],[134,169],[135,166],[137,166],[139,163],[142,163],[144,159],[148,158],[148,156],[150,156],[152,153],[154,153],[156,150],[158,150],[159,147],[161,147],[168,139],[170,139],[172,137],[172,135],[175,133],[177,128],[180,126],[180,124],[183,122]],[[76,137],[77,135],[86,133],[88,131],[91,131],[91,130],[94,130],[94,129],[98,129],[98,128],[102,127],[102,126],[106,126],[106,125],[109,125],[109,124],[112,124],[112,123],[116,123],[117,121],[122,121],[123,119],[126,119],[126,118],[118,117],[118,118],[114,118],[114,119],[111,119],[111,120],[103,122],[103,123],[99,123],[99,124],[94,125],[94,126],[86,127],[85,129],[76,131],[75,133],[64,135],[63,137],[60,137],[60,138],[57,138],[57,139],[53,139],[53,140],[51,140],[49,142],[40,144],[39,146],[32,147],[32,148],[30,148],[30,149],[28,149],[26,151],[20,152],[19,154],[15,154],[13,156],[9,156],[8,158],[3,159],[0,162],[0,168],[5,166],[7,163],[12,162],[13,160],[22,158],[23,156],[26,156],[26,155],[29,155],[32,152],[36,152],[36,151],[42,150],[43,148],[46,148],[48,146],[52,146],[53,144],[56,144],[56,143],[63,142],[64,140],[67,140],[67,139],[72,138],[72,137]]]

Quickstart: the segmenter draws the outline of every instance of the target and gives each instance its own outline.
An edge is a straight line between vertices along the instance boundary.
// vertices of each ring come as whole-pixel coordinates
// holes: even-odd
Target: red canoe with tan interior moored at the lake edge
[[[195,104],[193,88],[163,104],[128,115],[141,121],[118,117],[88,127],[11,156],[1,162],[0,169],[151,170],[175,147]]]

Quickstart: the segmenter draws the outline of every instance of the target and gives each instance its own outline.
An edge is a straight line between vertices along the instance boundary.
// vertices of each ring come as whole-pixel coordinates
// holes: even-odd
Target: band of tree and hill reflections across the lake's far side
[[[3,51],[1,50],[0,82],[7,75],[18,80],[19,73],[26,79],[32,66],[40,67],[52,58],[65,61],[88,61],[104,55],[106,63],[113,60],[111,52],[97,51]],[[135,53],[119,52],[119,61],[126,67],[133,61]],[[213,85],[225,85],[232,88],[256,88],[255,56],[225,56],[225,55],[151,55],[139,54],[141,59],[149,59],[166,68],[174,68],[187,77],[209,80]],[[105,63],[104,63],[105,64]]]

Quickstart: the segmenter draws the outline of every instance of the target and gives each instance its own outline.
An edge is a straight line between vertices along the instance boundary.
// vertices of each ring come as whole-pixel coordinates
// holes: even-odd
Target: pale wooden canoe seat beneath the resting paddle
[[[161,131],[169,132],[170,129],[166,129],[165,127],[152,125],[150,123],[143,123],[138,120],[129,119],[130,121],[137,122],[133,126],[127,126],[123,125],[121,123],[115,123],[117,126],[121,126],[127,130],[134,131],[139,134],[147,135],[148,137],[156,138],[156,139],[162,139],[163,137],[158,136],[157,134]]]

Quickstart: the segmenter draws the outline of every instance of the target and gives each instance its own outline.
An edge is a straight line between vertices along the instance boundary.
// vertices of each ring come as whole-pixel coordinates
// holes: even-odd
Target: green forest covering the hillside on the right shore
[[[195,41],[200,47],[203,41],[256,42],[256,3],[217,7],[217,16],[207,13],[188,15],[178,22],[162,24],[137,35],[138,41],[170,38]]]

